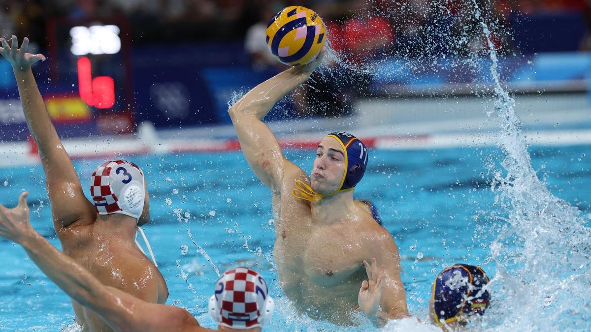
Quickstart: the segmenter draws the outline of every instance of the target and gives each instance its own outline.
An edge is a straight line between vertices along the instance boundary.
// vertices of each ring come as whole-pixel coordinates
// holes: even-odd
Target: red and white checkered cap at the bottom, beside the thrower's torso
[[[213,319],[222,326],[238,329],[262,327],[271,320],[274,308],[267,282],[248,268],[224,272],[209,299]]]

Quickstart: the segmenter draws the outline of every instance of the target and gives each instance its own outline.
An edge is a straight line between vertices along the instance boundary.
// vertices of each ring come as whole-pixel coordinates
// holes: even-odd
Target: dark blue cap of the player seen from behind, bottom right
[[[491,294],[482,291],[488,276],[479,266],[454,264],[441,271],[433,283],[433,314],[437,325],[464,321],[462,315],[484,314]]]

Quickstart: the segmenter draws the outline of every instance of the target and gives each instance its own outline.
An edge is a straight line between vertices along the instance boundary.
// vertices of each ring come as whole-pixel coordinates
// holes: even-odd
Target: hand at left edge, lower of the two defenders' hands
[[[12,209],[0,204],[0,236],[14,242],[33,230],[29,222],[28,191],[18,197],[18,205]]]

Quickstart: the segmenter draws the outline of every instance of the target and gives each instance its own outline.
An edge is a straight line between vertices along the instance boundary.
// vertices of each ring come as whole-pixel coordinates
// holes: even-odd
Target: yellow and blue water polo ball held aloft
[[[267,25],[267,45],[281,63],[301,66],[322,50],[326,27],[311,9],[289,6],[275,14]]]

